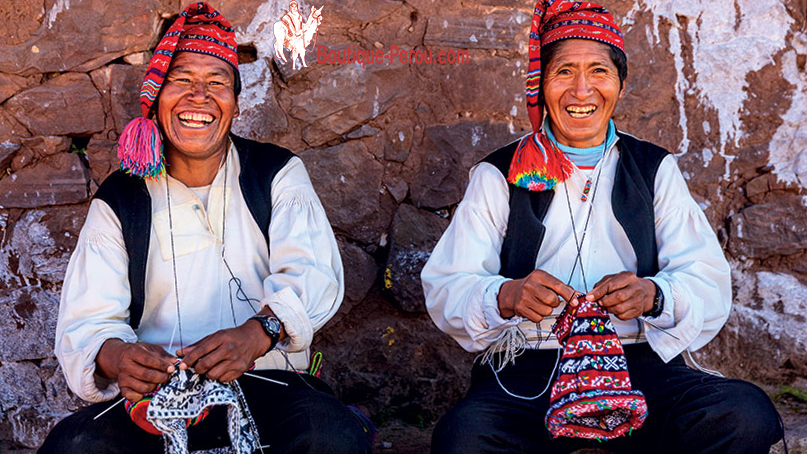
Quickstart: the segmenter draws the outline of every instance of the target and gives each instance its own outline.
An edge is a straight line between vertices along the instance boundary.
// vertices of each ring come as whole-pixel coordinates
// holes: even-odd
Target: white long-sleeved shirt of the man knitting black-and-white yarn
[[[119,391],[95,374],[95,357],[107,339],[149,342],[174,354],[182,345],[241,325],[264,305],[288,335],[277,350],[287,352],[295,368],[307,367],[314,332],[336,313],[344,294],[333,231],[302,161],[294,157],[272,182],[268,251],[244,202],[239,173],[238,153],[231,146],[209,189],[191,189],[170,176],[146,181],[152,228],[145,307],[137,330],[128,324],[128,256],[120,222],[105,202],[91,203],[67,268],[56,327],[56,356],[79,397],[97,402]],[[252,305],[238,299],[222,248],[244,293],[254,299]],[[257,367],[287,367],[277,350],[260,358]]]

